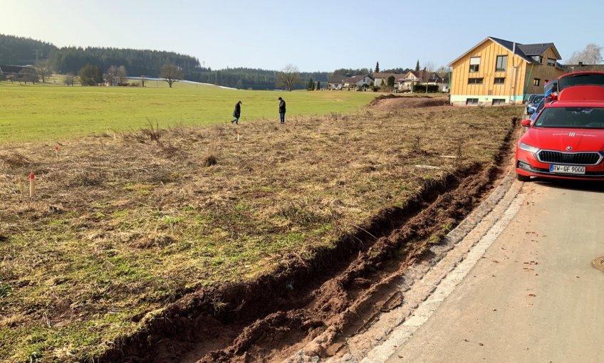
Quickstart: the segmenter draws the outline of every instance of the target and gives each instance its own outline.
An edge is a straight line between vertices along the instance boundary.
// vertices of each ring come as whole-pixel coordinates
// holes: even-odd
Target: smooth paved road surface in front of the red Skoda
[[[506,228],[387,362],[604,362],[604,272],[592,265],[604,256],[603,183],[531,181],[519,198]]]

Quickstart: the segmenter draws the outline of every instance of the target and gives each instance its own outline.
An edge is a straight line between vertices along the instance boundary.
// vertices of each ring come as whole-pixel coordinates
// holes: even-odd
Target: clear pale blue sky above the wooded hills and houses
[[[514,3],[514,2],[513,2]],[[487,36],[604,46],[600,1],[1,0],[0,33],[56,46],[175,51],[213,69],[447,65]],[[526,5],[530,4],[530,5]],[[421,8],[418,8],[421,6]]]

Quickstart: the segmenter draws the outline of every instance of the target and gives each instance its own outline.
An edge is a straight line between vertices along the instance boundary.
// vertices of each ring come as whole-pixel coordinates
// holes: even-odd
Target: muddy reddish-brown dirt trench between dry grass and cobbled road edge
[[[329,357],[343,338],[400,304],[395,280],[469,214],[500,174],[496,164],[432,181],[402,208],[382,211],[312,261],[291,256],[274,275],[187,295],[116,341],[97,362],[281,362],[298,349]],[[321,337],[319,343],[310,343]]]

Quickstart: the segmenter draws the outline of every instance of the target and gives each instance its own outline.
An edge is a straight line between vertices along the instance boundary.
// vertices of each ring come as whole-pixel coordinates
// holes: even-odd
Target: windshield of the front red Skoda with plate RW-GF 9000
[[[541,111],[535,126],[604,129],[604,107],[548,107]]]

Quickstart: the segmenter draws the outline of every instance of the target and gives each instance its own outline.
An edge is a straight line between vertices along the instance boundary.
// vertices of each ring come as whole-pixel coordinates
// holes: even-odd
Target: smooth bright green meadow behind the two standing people
[[[56,80],[58,82],[58,80]],[[147,81],[147,87],[81,87],[0,83],[0,143],[65,140],[95,132],[229,122],[243,102],[240,122],[287,116],[354,112],[375,93],[229,90],[214,85]]]

